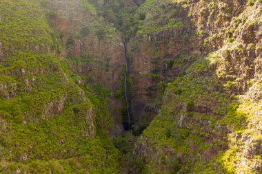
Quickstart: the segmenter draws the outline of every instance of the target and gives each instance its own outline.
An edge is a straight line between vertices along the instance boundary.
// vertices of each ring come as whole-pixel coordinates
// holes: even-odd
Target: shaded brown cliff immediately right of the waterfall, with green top
[[[192,63],[188,58],[174,69],[174,61],[201,54],[186,9],[173,1],[148,3],[137,10],[141,25],[128,44],[130,77],[136,84],[132,98],[134,120],[155,116],[161,102],[161,84],[172,82]]]

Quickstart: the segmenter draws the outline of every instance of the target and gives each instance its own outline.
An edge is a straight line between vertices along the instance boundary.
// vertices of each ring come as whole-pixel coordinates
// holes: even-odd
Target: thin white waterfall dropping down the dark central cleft
[[[131,129],[131,118],[130,118],[130,109],[128,104],[128,56],[127,56],[127,50],[126,50],[127,42],[125,41],[124,47],[125,47],[125,104],[126,109],[128,112],[128,129]]]

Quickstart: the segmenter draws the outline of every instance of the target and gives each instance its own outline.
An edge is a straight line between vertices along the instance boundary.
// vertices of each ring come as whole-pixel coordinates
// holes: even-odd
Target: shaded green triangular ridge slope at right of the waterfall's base
[[[147,151],[138,150],[145,160],[144,171],[147,173],[163,173],[165,170],[170,173],[216,173],[212,164],[221,164],[225,154],[232,151],[225,151],[212,162],[207,160],[217,152],[228,149],[225,139],[228,131],[223,127],[230,125],[232,130],[239,131],[244,129],[247,120],[235,99],[227,96],[216,78],[208,75],[208,64],[207,59],[199,58],[184,76],[165,89],[159,115],[137,142],[137,146],[144,146]],[[211,142],[206,143],[207,139]],[[148,141],[150,146],[146,145]],[[154,156],[149,156],[152,151]],[[223,168],[219,165],[218,168],[230,173],[228,166]]]

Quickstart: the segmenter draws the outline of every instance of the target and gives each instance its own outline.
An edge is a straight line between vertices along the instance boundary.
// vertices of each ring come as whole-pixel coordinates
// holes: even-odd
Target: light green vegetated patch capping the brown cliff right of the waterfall
[[[181,17],[182,4],[183,2],[176,1],[145,1],[134,15],[133,25],[138,25],[137,30],[134,30],[134,32],[151,34],[163,30],[172,31],[183,28],[184,24]]]

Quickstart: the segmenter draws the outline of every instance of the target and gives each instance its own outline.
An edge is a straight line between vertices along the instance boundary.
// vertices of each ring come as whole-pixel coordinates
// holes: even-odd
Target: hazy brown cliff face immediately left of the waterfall
[[[62,60],[82,77],[77,80],[79,85],[98,83],[110,89],[108,107],[115,120],[112,133],[121,131],[122,104],[114,97],[121,91],[125,70],[125,48],[120,34],[87,0],[45,1],[42,6],[46,8],[50,25],[59,34]]]

